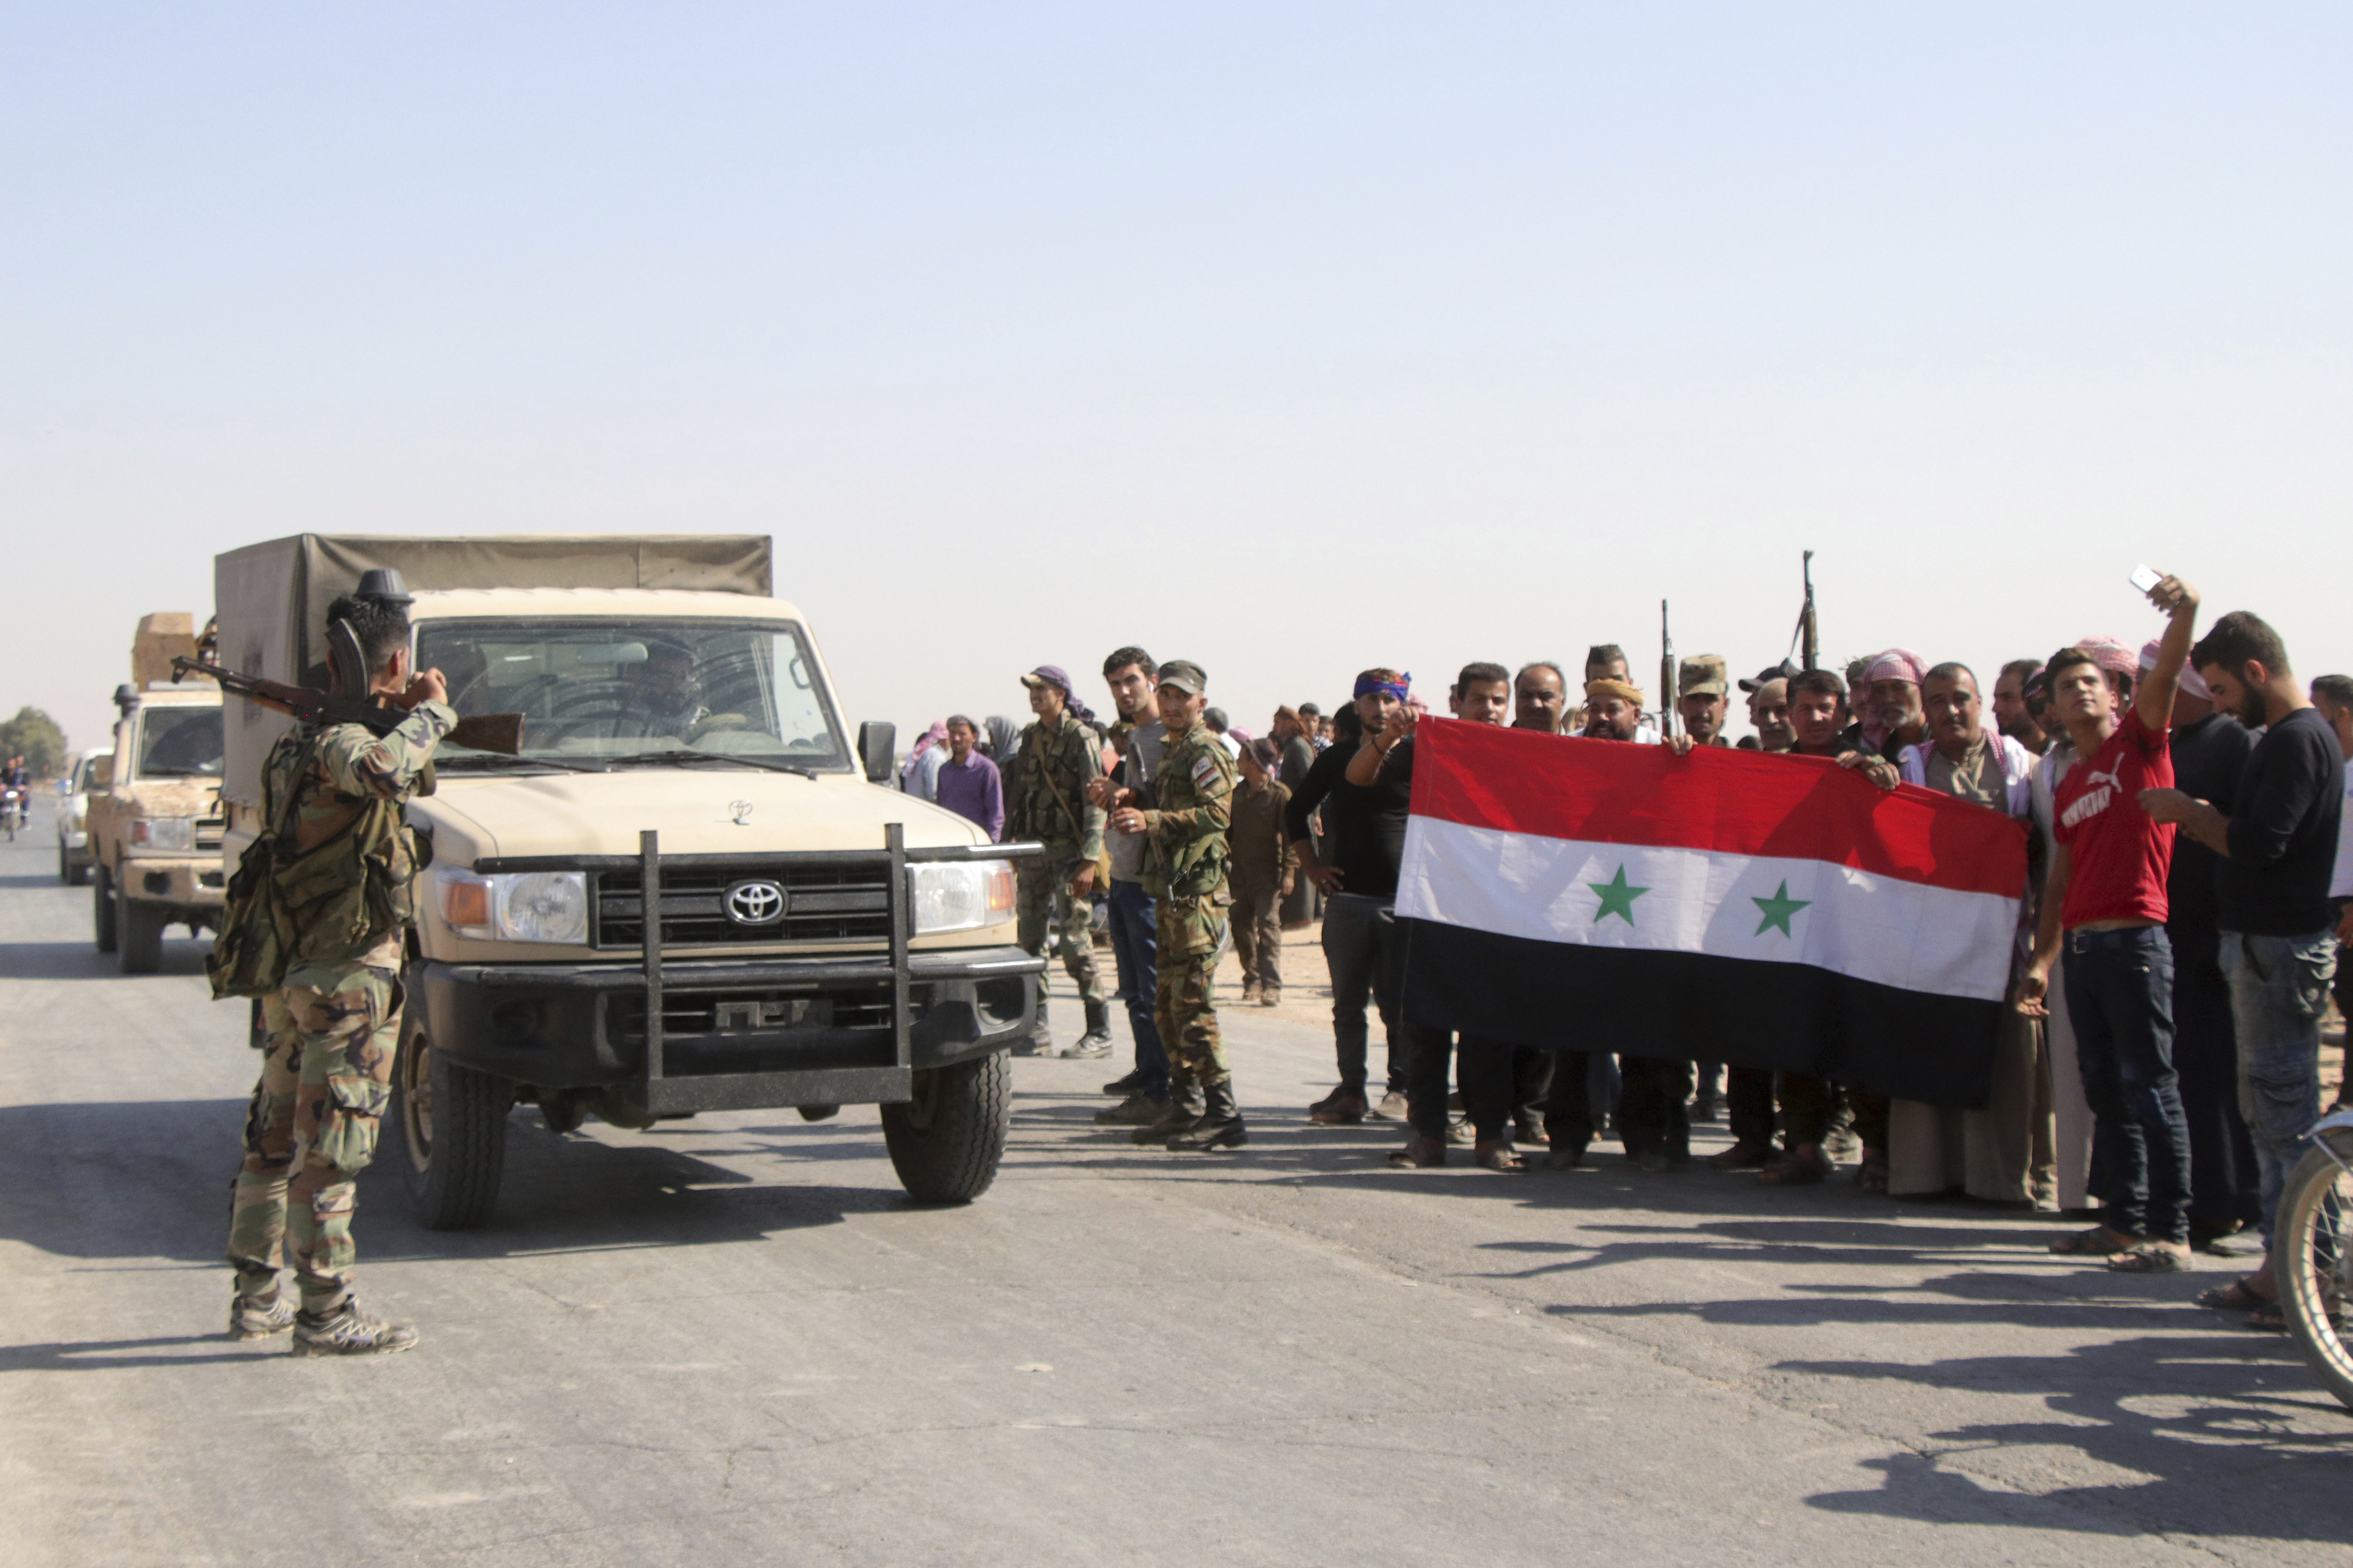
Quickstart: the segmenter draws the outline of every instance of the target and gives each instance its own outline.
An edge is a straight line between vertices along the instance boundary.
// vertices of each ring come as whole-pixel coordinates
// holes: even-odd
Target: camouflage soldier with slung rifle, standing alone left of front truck
[[[351,1211],[400,1041],[400,957],[416,877],[400,804],[419,790],[456,712],[440,670],[409,679],[409,599],[398,576],[384,576],[384,597],[341,597],[327,618],[351,621],[374,672],[369,693],[400,703],[409,719],[388,736],[299,724],[271,750],[261,780],[292,940],[280,990],[261,999],[268,1044],[228,1225],[238,1269],[228,1333],[261,1340],[292,1328],[296,1356],[416,1345],[416,1331],[369,1319],[351,1298]],[[280,1260],[301,1288],[299,1314],[278,1291]]]

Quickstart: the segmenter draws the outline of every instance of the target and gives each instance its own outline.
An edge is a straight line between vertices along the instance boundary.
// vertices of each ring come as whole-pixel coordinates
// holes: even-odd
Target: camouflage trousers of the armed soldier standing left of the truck
[[[242,1293],[271,1295],[282,1262],[308,1312],[351,1295],[355,1178],[393,1095],[400,999],[400,976],[365,964],[289,969],[261,999],[268,1044],[228,1220]]]

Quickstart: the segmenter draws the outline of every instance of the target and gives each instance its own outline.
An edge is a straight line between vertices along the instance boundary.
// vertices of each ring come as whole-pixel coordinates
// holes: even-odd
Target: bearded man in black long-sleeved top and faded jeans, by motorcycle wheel
[[[2214,705],[2264,738],[2238,780],[2228,813],[2184,790],[2141,790],[2158,823],[2221,856],[2214,875],[2221,971],[2238,1025],[2238,1095],[2247,1107],[2261,1178],[2259,1218],[2268,1248],[2287,1171],[2320,1119],[2320,1013],[2337,973],[2329,872],[2344,816],[2346,764],[2337,731],[2306,701],[2287,668],[2280,635],[2247,611],[2231,611],[2191,651]],[[2259,1307],[2278,1321],[2271,1255],[2212,1305]]]

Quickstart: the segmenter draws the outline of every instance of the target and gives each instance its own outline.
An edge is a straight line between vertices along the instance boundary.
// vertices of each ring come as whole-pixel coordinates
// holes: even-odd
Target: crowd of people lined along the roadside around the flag
[[[1452,717],[1633,745],[1739,745],[1824,759],[1873,785],[1915,785],[2000,811],[2026,830],[2028,886],[2012,938],[2009,1006],[1977,1107],[1887,1100],[1800,1072],[1722,1067],[1454,1039],[1407,1018],[1398,872],[1414,788],[1412,677],[1369,668],[1346,703],[1275,710],[1264,736],[1207,705],[1207,677],[1139,646],[1101,665],[1108,717],[1071,675],[1021,677],[1031,724],[934,724],[901,788],[1033,839],[1021,863],[1024,947],[1054,957],[1085,1006],[1056,1041],[1113,1051],[1125,1001],[1134,1070],[1106,1084],[1099,1121],[1179,1150],[1247,1140],[1207,980],[1231,940],[1242,1006],[1282,997],[1282,929],[1320,922],[1337,1086],[1315,1126],[1395,1121],[1398,1166],[1449,1147],[1492,1171],[1588,1159],[1614,1133],[1642,1171],[1692,1161],[1692,1124],[1727,1121],[1720,1171],[1774,1187],[1831,1178],[1868,1192],[1965,1192],[2089,1213],[2057,1253],[2125,1272],[2186,1267],[2193,1248],[2249,1251],[2320,1117],[2322,1013],[2353,966],[2353,677],[2301,682],[2278,632],[2233,611],[2200,635],[2198,595],[2148,590],[2165,618],[2139,646],[2078,637],[2005,663],[1988,686],[1958,661],[1887,649],[1845,672],[1793,661],[1732,679],[1725,658],[1678,665],[1657,710],[1624,649],[1593,646],[1569,679],[1553,661],[1466,663]],[[1181,907],[1176,907],[1181,905]],[[1115,964],[1106,992],[1092,931]],[[1207,954],[1207,959],[1202,957]],[[1372,1081],[1372,1018],[1384,1077]],[[2344,1091],[2339,1091],[2344,1093]],[[2209,1307],[2278,1326],[2268,1251]]]

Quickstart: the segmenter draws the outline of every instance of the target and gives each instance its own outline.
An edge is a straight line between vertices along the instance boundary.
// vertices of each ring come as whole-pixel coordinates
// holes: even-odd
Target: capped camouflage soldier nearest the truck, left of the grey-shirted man
[[[1005,837],[1038,839],[1045,856],[1019,863],[1014,917],[1021,947],[1045,954],[1045,922],[1054,917],[1054,952],[1078,983],[1087,1006],[1087,1032],[1059,1056],[1111,1056],[1111,1006],[1094,971],[1094,875],[1104,853],[1104,809],[1089,780],[1104,776],[1104,741],[1082,724],[1071,698],[1071,677],[1056,665],[1038,665],[1021,677],[1038,722],[1021,731],[1021,748],[1005,773]],[[1038,987],[1040,1056],[1056,1056],[1045,1023],[1045,987]]]

